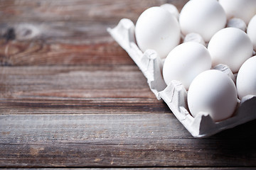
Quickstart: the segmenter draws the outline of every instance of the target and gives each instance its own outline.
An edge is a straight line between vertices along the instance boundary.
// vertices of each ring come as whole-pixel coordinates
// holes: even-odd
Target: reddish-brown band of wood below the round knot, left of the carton
[[[114,40],[96,45],[47,44],[42,41],[7,43],[2,41],[0,44],[2,66],[85,64],[134,64],[134,62]]]

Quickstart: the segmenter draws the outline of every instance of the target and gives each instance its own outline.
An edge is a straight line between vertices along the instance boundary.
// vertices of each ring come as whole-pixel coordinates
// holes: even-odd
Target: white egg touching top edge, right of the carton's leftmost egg
[[[181,32],[198,33],[208,42],[218,30],[225,27],[225,11],[216,0],[193,0],[183,6],[179,23]]]

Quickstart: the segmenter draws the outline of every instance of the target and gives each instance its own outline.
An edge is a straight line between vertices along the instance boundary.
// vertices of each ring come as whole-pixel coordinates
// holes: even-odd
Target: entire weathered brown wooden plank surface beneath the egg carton
[[[256,120],[195,139],[110,37],[186,1],[0,1],[0,167],[255,169]]]

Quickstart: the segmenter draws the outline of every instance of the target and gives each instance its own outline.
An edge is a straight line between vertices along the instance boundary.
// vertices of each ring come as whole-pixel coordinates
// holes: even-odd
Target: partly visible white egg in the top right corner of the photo
[[[227,18],[241,18],[246,24],[256,14],[255,0],[219,0]]]

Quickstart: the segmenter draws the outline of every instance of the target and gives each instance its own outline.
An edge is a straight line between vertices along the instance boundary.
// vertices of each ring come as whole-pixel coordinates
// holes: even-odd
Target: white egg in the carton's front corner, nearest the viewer
[[[233,115],[238,103],[235,84],[223,72],[210,69],[199,74],[188,89],[188,108],[193,115],[209,113],[215,122]]]

